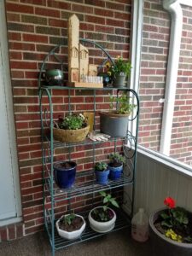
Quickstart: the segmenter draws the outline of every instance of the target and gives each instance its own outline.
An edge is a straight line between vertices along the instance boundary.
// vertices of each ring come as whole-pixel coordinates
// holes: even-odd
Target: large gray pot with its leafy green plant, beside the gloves
[[[114,97],[109,95],[109,112],[100,113],[100,129],[112,137],[125,137],[127,134],[128,117],[136,105],[126,92]],[[114,106],[116,109],[113,110]]]

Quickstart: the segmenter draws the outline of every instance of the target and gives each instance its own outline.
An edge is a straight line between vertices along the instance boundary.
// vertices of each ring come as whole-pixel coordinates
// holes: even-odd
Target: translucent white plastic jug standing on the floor
[[[148,240],[148,216],[143,208],[140,208],[131,220],[131,236],[136,241]]]

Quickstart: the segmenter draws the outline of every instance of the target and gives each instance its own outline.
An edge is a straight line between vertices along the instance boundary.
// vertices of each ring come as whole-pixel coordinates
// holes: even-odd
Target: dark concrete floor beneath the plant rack
[[[16,241],[0,243],[1,256],[51,256],[49,241],[44,232]],[[129,230],[119,230],[90,241],[61,249],[55,256],[148,256],[150,241],[133,241]],[[165,255],[166,256],[166,255]]]

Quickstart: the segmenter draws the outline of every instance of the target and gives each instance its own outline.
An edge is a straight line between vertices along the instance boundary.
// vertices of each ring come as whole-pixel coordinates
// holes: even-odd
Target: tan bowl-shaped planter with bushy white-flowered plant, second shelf
[[[90,125],[82,113],[69,113],[64,119],[59,116],[53,129],[55,140],[62,143],[80,143],[84,141]]]

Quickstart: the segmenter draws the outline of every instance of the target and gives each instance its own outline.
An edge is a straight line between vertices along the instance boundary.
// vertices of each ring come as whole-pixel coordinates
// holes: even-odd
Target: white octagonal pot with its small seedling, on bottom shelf
[[[67,240],[79,238],[85,226],[84,218],[74,213],[63,215],[56,221],[56,229],[59,236]]]

